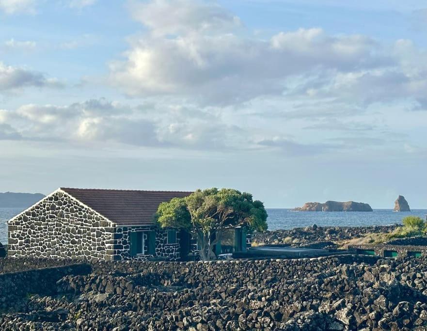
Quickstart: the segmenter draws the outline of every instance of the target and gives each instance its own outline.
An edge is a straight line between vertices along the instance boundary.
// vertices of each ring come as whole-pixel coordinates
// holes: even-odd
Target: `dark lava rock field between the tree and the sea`
[[[281,244],[293,247],[334,248],[334,242],[362,237],[369,233],[393,232],[400,225],[364,226],[364,227],[320,227],[314,224],[305,228],[274,230],[255,233],[252,242],[258,245]],[[314,245],[314,246],[313,246]]]

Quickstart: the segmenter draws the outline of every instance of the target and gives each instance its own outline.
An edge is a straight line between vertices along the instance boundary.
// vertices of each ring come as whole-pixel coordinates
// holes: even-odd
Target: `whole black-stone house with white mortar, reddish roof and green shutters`
[[[184,229],[160,229],[158,205],[191,192],[59,188],[8,221],[9,257],[179,260],[197,252]],[[217,253],[246,251],[232,229]],[[248,238],[247,238],[248,237]],[[231,245],[231,246],[230,246]]]

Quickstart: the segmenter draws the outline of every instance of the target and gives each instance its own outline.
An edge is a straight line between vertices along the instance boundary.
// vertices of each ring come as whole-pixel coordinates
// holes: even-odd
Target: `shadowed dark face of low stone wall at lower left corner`
[[[90,265],[74,264],[2,274],[0,275],[0,309],[12,308],[14,303],[26,295],[55,294],[56,282],[64,276],[86,275],[90,272]]]

